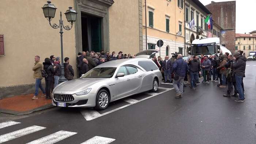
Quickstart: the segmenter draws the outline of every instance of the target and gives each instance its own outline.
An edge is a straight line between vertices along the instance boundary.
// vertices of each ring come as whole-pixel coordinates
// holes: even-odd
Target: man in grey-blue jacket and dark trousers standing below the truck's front
[[[207,83],[209,84],[209,80],[210,80],[210,75],[209,72],[211,70],[211,61],[208,59],[208,56],[204,56],[204,61],[201,64],[201,68],[203,69],[203,77],[204,80],[202,83]]]

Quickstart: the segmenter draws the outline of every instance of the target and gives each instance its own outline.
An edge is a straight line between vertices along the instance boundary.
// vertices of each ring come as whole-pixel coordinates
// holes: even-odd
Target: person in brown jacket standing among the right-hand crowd
[[[219,65],[219,67],[217,67],[217,69],[219,70],[219,73],[221,74],[221,79],[222,79],[222,85],[219,86],[221,88],[226,87],[226,72],[227,72],[227,68],[225,67],[226,64],[227,64],[226,54],[222,54],[221,64]]]

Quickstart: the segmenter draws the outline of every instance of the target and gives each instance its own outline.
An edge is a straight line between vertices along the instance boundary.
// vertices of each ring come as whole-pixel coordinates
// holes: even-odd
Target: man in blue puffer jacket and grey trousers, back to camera
[[[187,62],[185,62],[182,59],[182,54],[179,54],[177,58],[178,59],[173,63],[173,66],[172,66],[172,73],[175,73],[176,76],[178,75],[178,79],[173,80],[173,87],[175,88],[175,91],[176,91],[176,98],[178,97],[182,98],[183,82],[187,74],[187,71],[189,70],[189,67]]]

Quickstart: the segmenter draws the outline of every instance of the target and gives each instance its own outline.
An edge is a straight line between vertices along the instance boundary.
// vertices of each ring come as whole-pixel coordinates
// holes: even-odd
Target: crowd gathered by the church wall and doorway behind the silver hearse
[[[76,57],[76,67],[79,71],[79,76],[82,76],[86,72],[90,71],[97,65],[100,65],[106,61],[118,60],[123,58],[134,58],[131,54],[123,54],[123,52],[94,52],[86,51],[78,53]],[[75,72],[73,67],[69,64],[69,58],[64,58],[64,76],[67,80],[72,80],[74,78]],[[35,79],[35,94],[32,99],[38,99],[39,88],[43,92],[42,97],[46,99],[51,99],[50,92],[59,83],[61,76],[61,59],[60,57],[55,57],[54,55],[50,58],[45,58],[45,61],[41,63],[40,56],[35,56],[35,64],[33,67],[34,79]],[[45,79],[45,89],[42,87],[41,80]]]

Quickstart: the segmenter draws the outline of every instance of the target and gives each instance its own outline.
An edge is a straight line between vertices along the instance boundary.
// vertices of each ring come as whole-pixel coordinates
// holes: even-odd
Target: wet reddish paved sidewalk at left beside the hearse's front
[[[18,95],[1,99],[0,112],[15,115],[25,115],[53,107],[52,100],[45,99],[45,97],[41,97],[42,95],[42,93],[39,93],[38,99],[35,100],[31,99],[34,94]]]

